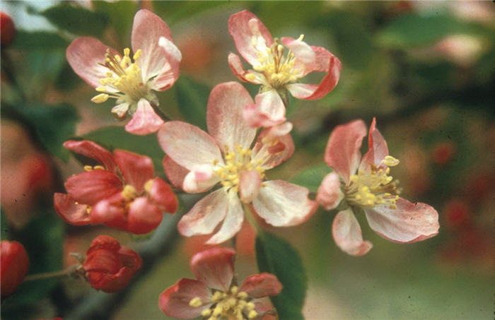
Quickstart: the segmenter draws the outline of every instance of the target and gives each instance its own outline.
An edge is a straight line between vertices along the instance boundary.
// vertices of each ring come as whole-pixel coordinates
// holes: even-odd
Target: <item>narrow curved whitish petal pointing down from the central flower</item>
[[[239,232],[240,228],[243,226],[243,220],[243,206],[240,203],[237,192],[231,190],[228,192],[227,215],[225,219],[223,219],[220,230],[216,232],[213,237],[209,238],[208,241],[206,241],[205,243],[220,244],[227,241],[228,239],[231,239],[231,237]]]

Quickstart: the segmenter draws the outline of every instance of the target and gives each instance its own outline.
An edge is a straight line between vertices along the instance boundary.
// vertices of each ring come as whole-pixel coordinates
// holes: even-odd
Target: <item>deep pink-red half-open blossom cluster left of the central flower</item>
[[[64,147],[101,165],[69,177],[67,194],[54,194],[54,206],[71,225],[97,225],[143,234],[161,223],[162,212],[174,213],[177,198],[155,177],[151,159],[124,150],[114,154],[92,141],[66,141]]]

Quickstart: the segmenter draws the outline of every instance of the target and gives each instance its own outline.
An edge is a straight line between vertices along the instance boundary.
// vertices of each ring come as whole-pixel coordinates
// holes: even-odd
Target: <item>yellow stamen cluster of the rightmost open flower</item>
[[[346,199],[351,206],[371,208],[385,204],[390,209],[397,209],[395,203],[400,194],[397,188],[399,182],[388,174],[390,167],[398,165],[399,160],[388,155],[382,162],[388,166],[385,170],[371,165],[370,170],[359,170],[351,176],[351,183],[345,187]]]

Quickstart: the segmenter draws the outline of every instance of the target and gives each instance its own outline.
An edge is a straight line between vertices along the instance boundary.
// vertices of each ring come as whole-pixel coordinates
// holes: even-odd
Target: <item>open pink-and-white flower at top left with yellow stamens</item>
[[[126,48],[121,57],[98,39],[78,37],[67,48],[67,61],[78,76],[100,92],[91,101],[117,99],[112,114],[119,119],[132,115],[125,129],[132,134],[151,134],[163,124],[153,111],[158,100],[152,90],[167,90],[175,83],[182,56],[168,25],[148,10],[134,16],[131,40],[134,55]]]

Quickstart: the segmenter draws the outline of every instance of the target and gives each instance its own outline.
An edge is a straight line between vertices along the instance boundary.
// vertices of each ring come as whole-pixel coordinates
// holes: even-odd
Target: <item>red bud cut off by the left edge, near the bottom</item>
[[[29,258],[22,244],[16,241],[2,241],[1,255],[1,297],[11,295],[28,273]]]

